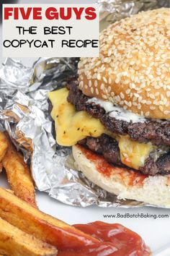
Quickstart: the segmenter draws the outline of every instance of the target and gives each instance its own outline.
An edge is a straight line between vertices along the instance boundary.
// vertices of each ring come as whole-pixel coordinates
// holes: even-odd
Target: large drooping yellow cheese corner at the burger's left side
[[[87,136],[98,137],[105,129],[99,119],[94,119],[85,111],[76,111],[67,101],[66,88],[48,94],[53,111],[51,116],[55,120],[56,140],[59,145],[72,146]]]

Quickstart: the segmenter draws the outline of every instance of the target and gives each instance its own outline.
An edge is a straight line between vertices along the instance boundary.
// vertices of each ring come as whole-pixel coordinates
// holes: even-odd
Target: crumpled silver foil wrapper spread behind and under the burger
[[[101,27],[141,10],[169,7],[170,1],[98,0]],[[41,58],[33,67],[6,59],[0,70],[0,129],[6,129],[24,161],[30,164],[38,190],[68,205],[86,207],[139,207],[135,200],[120,200],[89,182],[76,170],[71,148],[54,139],[47,93],[61,88],[76,74],[77,58]],[[152,206],[152,205],[150,205]]]

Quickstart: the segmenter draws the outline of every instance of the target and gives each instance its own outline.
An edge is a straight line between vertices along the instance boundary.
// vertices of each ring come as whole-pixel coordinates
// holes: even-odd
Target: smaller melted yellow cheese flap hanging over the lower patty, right
[[[128,136],[120,136],[119,148],[122,163],[138,170],[140,166],[144,165],[153,148],[156,147],[151,143],[139,143],[130,140]]]

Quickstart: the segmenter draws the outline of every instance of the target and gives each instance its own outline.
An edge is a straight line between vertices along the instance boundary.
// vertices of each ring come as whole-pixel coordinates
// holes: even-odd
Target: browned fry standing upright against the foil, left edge
[[[17,197],[20,197],[22,200],[37,208],[35,202],[35,187],[32,182],[30,170],[27,164],[24,163],[22,154],[17,152],[7,135],[6,140],[8,142],[8,149],[2,159],[2,164],[6,170],[9,184]]]

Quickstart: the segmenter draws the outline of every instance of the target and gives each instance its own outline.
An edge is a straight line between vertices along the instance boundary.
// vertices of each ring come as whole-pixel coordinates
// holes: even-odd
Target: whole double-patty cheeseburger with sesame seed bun
[[[98,58],[49,93],[56,140],[120,198],[170,207],[170,10],[109,25]]]

